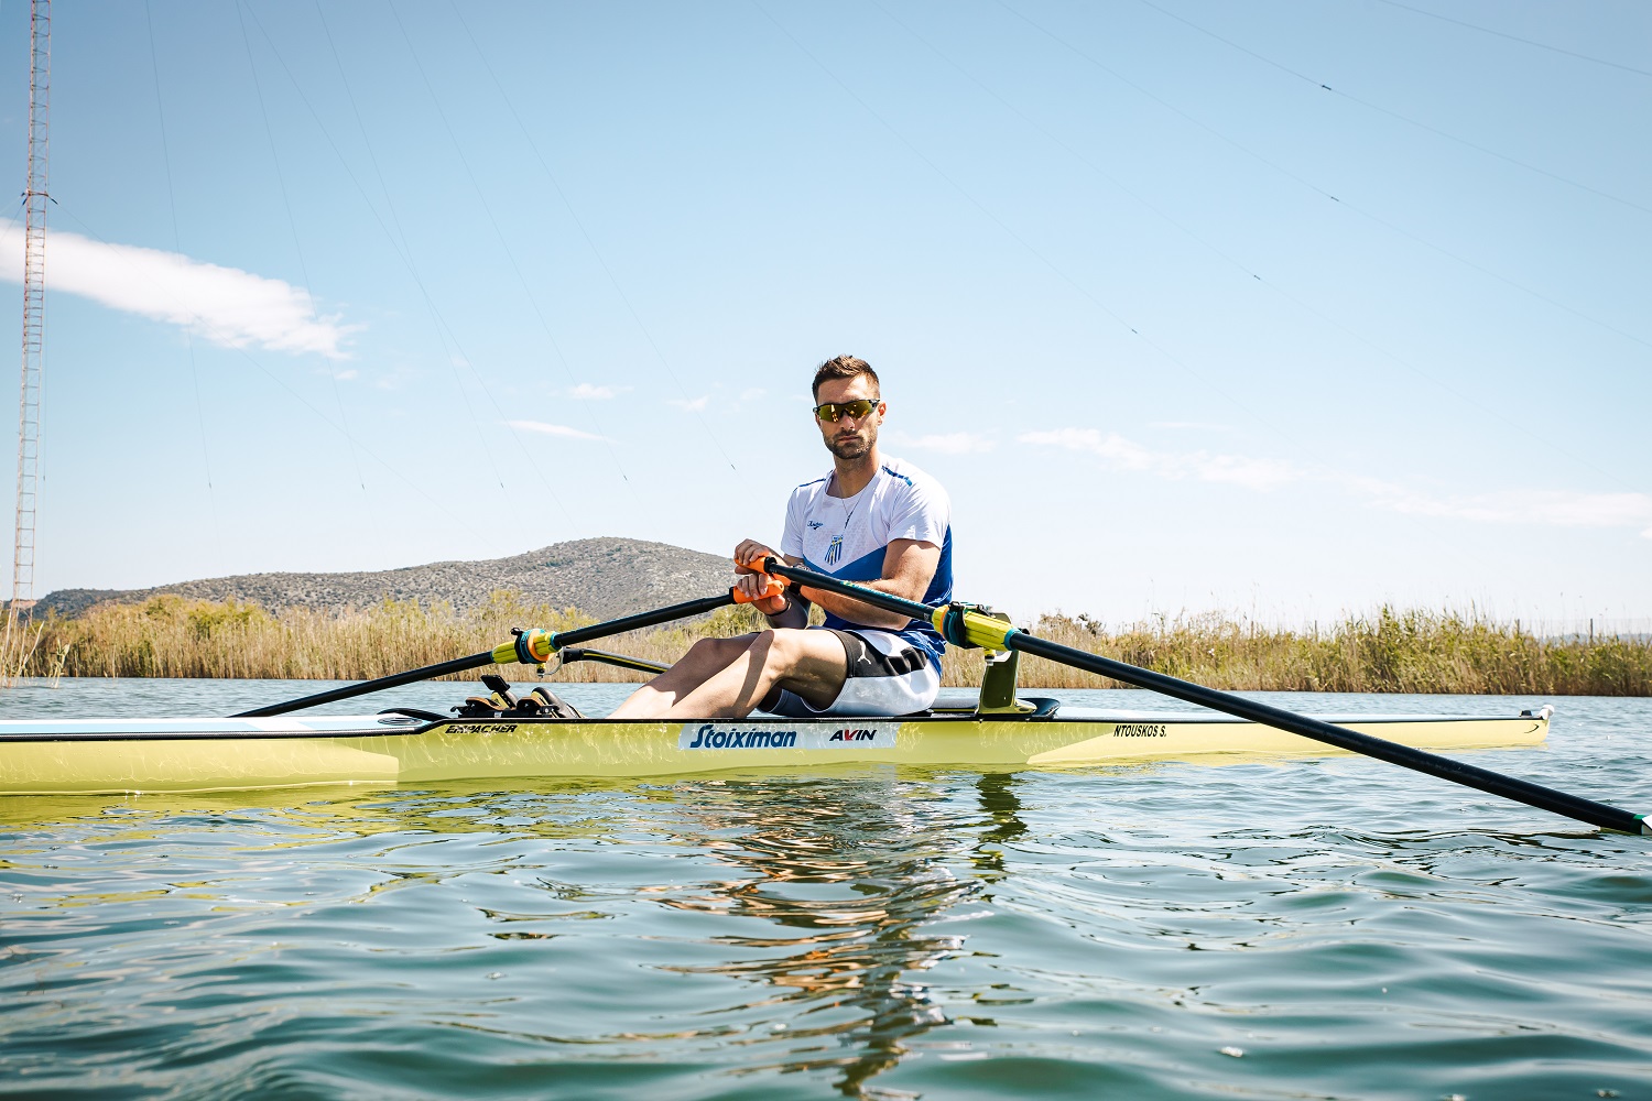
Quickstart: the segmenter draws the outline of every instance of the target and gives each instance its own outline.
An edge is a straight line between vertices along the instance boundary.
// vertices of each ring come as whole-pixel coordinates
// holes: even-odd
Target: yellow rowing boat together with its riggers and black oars
[[[743,568],[765,578],[763,596],[776,594],[783,583],[806,584],[932,622],[947,642],[985,650],[980,692],[965,702],[937,702],[917,715],[791,720],[753,713],[742,720],[636,721],[585,718],[544,687],[517,698],[504,678],[484,675],[491,695],[468,698],[453,708],[453,716],[413,708],[345,718],[292,715],[487,665],[534,665],[540,677],[555,672],[552,662],[560,669],[573,660],[661,672],[664,667],[654,662],[590,650],[585,644],[755,599],[735,586],[572,631],[512,631],[509,642],[481,654],[228,718],[0,721],[0,794],[638,779],[844,764],[1001,773],[1345,751],[1597,829],[1652,835],[1652,820],[1644,814],[1432,753],[1538,744],[1548,736],[1548,706],[1505,716],[1298,715],[1039,639],[981,604],[922,604],[778,558]],[[1150,688],[1213,713],[1100,711],[1047,698],[1023,700],[1016,690],[1023,654]]]

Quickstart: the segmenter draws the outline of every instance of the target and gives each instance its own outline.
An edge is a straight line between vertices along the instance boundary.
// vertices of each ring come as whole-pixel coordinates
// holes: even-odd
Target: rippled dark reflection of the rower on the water
[[[859,1098],[905,1055],[904,1040],[947,1022],[914,972],[963,943],[923,924],[978,890],[940,860],[952,855],[947,827],[965,825],[952,814],[890,781],[753,784],[715,815],[695,815],[704,832],[686,840],[743,875],[662,901],[781,926],[717,938],[750,957],[672,967],[776,987],[743,1007],[791,1007],[786,1058],[747,1073],[839,1068],[838,1089]]]

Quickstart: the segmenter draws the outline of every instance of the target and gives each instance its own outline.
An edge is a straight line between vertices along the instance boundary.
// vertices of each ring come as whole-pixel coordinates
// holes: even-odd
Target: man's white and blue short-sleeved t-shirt
[[[940,548],[940,561],[923,602],[952,599],[952,502],[940,482],[910,462],[884,457],[877,474],[854,497],[828,495],[831,484],[833,475],[828,474],[791,490],[781,555],[801,558],[809,569],[844,581],[877,581],[884,576],[884,553],[892,541],[933,543]],[[831,612],[826,614],[826,626],[864,629]],[[895,634],[928,654],[940,669],[947,644],[933,626],[912,619]]]

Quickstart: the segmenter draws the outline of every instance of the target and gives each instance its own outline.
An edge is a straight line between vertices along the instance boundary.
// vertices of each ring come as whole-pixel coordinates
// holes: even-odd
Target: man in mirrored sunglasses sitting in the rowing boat
[[[910,601],[952,599],[952,503],[932,477],[877,451],[889,411],[877,373],[854,357],[828,360],[814,401],[831,474],[791,490],[780,551],[735,546],[740,588],[758,596],[762,578],[745,563],[775,556]],[[808,626],[809,604],[824,626]],[[753,606],[768,631],[695,642],[613,718],[743,718],[758,706],[798,718],[907,715],[935,702],[945,642],[928,622],[800,586]]]

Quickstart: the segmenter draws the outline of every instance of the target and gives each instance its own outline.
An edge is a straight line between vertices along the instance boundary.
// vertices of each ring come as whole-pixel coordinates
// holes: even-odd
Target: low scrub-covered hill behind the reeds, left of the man
[[[578,607],[608,619],[727,589],[733,569],[727,558],[702,551],[595,538],[552,543],[512,558],[436,561],[426,566],[372,573],[248,573],[233,578],[178,581],[152,589],[58,589],[46,594],[36,614],[55,611],[73,617],[94,604],[139,604],[173,593],[203,601],[241,601],[271,612],[286,607],[368,607],[385,598],[421,604],[448,601],[468,611],[496,589],[514,589],[530,602]]]

